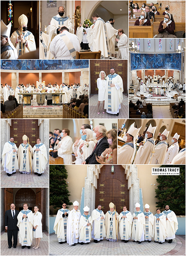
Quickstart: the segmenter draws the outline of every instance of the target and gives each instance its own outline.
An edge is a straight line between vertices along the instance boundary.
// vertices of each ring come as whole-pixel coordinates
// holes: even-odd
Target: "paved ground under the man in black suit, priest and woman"
[[[25,249],[21,248],[21,244],[18,243],[16,249],[13,246],[8,248],[7,241],[7,233],[4,231],[1,232],[1,255],[48,255],[49,252],[49,244],[48,244],[48,232],[43,231],[43,237],[41,238],[41,242],[38,250],[34,250],[32,247],[35,246],[35,238],[33,238],[33,243],[31,245],[31,249],[25,247]]]

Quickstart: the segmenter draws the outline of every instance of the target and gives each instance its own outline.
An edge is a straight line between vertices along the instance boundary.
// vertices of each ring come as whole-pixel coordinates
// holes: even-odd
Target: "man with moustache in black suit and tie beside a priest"
[[[10,210],[7,210],[4,215],[4,224],[8,235],[9,249],[12,247],[12,235],[13,235],[13,247],[17,246],[17,215],[19,211],[15,210],[16,206],[14,203],[10,205]]]

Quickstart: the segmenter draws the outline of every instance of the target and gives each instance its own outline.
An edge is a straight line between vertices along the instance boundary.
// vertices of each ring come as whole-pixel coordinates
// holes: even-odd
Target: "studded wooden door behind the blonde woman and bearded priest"
[[[116,74],[123,79],[124,92],[127,92],[127,62],[128,60],[90,60],[90,88],[91,94],[98,94],[97,78],[100,71],[105,71],[106,75],[110,74],[110,68],[115,69]]]

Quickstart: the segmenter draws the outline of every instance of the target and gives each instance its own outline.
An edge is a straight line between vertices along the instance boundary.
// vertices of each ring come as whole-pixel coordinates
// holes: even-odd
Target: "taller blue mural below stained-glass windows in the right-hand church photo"
[[[131,70],[177,69],[181,70],[181,53],[140,54],[131,53]]]

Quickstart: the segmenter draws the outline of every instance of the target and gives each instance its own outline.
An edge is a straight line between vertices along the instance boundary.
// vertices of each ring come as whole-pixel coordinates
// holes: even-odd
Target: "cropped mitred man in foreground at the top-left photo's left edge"
[[[1,20],[1,59],[16,60],[18,58],[17,50],[10,40],[11,26],[11,22],[6,26]]]

